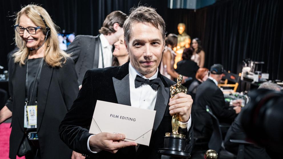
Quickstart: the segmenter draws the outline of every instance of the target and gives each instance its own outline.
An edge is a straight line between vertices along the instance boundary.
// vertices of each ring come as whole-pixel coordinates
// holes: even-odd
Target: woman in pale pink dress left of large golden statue
[[[165,38],[165,47],[162,55],[162,60],[160,63],[160,73],[173,80],[176,79],[179,75],[174,70],[174,59],[176,57],[176,53],[173,51],[173,48],[177,46],[178,36],[176,34],[169,34]],[[183,81],[187,79],[186,76],[183,76]]]

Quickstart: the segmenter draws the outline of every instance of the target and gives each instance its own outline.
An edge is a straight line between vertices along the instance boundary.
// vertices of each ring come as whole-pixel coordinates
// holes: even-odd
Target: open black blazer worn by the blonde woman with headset
[[[27,65],[9,60],[9,93],[7,107],[13,112],[9,158],[15,159],[25,134],[24,105]],[[78,95],[74,61],[52,68],[43,62],[38,84],[37,133],[42,159],[71,158],[72,150],[58,135],[58,127]]]

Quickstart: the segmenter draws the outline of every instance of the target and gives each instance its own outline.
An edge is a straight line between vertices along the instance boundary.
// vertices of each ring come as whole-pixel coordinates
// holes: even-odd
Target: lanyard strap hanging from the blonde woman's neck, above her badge
[[[28,97],[28,87],[29,87],[29,82],[28,82],[28,74],[29,74],[29,60],[27,60],[27,74],[26,74],[26,95],[25,95],[25,100],[26,100],[26,103],[28,103],[29,101],[33,101],[33,94],[35,92],[35,89],[37,90],[37,83],[39,81],[39,77],[40,77],[40,74],[41,74],[41,68],[42,68],[42,65],[43,65],[43,58],[40,60],[40,63],[39,63],[39,66],[37,68],[37,71],[36,71],[36,74],[35,74],[35,81],[33,82],[33,85],[31,86],[31,93]],[[36,94],[36,99],[37,100],[37,94]]]

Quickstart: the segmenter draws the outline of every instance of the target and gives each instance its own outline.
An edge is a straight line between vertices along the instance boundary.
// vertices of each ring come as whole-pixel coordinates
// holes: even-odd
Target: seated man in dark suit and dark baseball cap
[[[232,123],[241,111],[239,101],[231,103],[231,106],[234,107],[229,107],[229,103],[225,103],[223,92],[217,86],[223,76],[225,76],[223,66],[214,64],[211,66],[208,79],[198,87],[192,115],[196,125],[194,127],[195,136],[202,136],[207,139],[211,137],[213,124],[209,113],[206,111],[206,105],[211,108],[213,114],[221,123]]]

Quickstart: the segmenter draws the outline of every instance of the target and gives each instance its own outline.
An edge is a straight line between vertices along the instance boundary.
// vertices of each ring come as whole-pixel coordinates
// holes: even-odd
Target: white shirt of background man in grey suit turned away
[[[101,46],[99,46],[99,60],[98,60],[98,68],[103,68],[102,65],[102,56],[104,61],[104,68],[112,66],[112,45],[109,44],[108,40],[105,38],[103,34],[99,35]],[[102,55],[103,54],[103,55]]]

